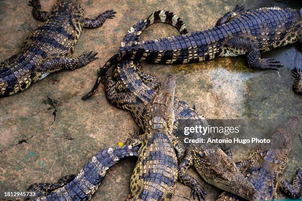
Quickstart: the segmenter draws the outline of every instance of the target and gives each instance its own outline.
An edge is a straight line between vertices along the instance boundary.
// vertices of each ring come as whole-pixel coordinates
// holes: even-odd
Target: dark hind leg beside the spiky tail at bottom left
[[[36,196],[38,197],[46,196],[58,188],[65,186],[75,178],[75,174],[69,174],[61,177],[56,183],[35,183],[28,188],[28,191],[36,192]]]

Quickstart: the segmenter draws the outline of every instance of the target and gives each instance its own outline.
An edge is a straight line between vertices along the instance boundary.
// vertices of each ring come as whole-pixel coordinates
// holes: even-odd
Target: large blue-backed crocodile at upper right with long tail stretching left
[[[246,55],[251,68],[278,70],[282,65],[274,59],[261,58],[261,53],[294,42],[302,44],[301,25],[302,9],[239,9],[239,12],[227,13],[212,29],[137,44],[122,43],[118,53],[100,68],[93,88],[82,99],[94,94],[108,68],[127,59],[158,64],[189,64],[217,57]]]

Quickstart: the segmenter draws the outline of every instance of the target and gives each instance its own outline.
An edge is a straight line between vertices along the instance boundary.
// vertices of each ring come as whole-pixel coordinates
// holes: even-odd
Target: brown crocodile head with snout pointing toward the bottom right
[[[250,201],[257,200],[259,192],[254,188],[235,163],[221,149],[196,150],[194,167],[209,184]]]

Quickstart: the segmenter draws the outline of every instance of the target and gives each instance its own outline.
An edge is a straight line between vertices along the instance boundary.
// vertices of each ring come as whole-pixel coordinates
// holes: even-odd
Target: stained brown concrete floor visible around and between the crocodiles
[[[55,0],[41,0],[50,10]],[[141,1],[83,0],[87,17],[96,17],[114,9],[116,17],[98,29],[84,29],[73,57],[83,51],[97,51],[100,59],[75,71],[53,73],[28,90],[0,99],[0,191],[26,190],[32,183],[55,182],[61,176],[78,173],[97,151],[124,141],[137,128],[128,111],[111,105],[101,85],[89,100],[80,100],[96,79],[99,65],[117,52],[124,34],[140,19],[155,10],[177,13],[189,32],[213,27],[216,20],[236,4],[254,9],[263,6],[301,8],[299,1],[274,0],[177,0]],[[0,61],[16,54],[26,36],[38,26],[31,16],[27,0],[0,0]],[[148,28],[142,39],[171,36],[177,31],[168,25]],[[176,95],[195,103],[199,113],[210,119],[283,119],[302,118],[302,97],[292,91],[290,70],[302,65],[301,47],[289,45],[265,53],[263,57],[280,60],[276,71],[249,69],[243,57],[218,58],[190,65],[152,65],[144,69],[163,80],[167,73],[177,76]],[[279,76],[280,75],[280,76]],[[291,179],[301,167],[301,127],[289,157],[285,177]],[[233,150],[234,159],[247,157],[251,147]],[[111,168],[93,200],[120,201],[129,193],[129,181],[135,159],[127,159]],[[220,194],[194,175],[208,192],[207,200]],[[189,188],[178,183],[172,201],[192,200]],[[283,198],[283,194],[280,198]]]

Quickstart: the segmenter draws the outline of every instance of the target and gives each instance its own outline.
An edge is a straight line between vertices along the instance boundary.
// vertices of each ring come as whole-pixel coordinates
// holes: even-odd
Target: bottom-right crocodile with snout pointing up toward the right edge
[[[301,169],[297,170],[293,184],[283,178],[298,124],[299,118],[291,117],[273,132],[272,139],[280,142],[280,148],[271,148],[268,147],[269,145],[256,146],[251,150],[247,160],[236,163],[240,171],[261,193],[259,201],[276,200],[279,187],[290,198],[300,198],[302,190]],[[238,200],[237,196],[227,192],[222,193],[217,199],[217,201]]]

